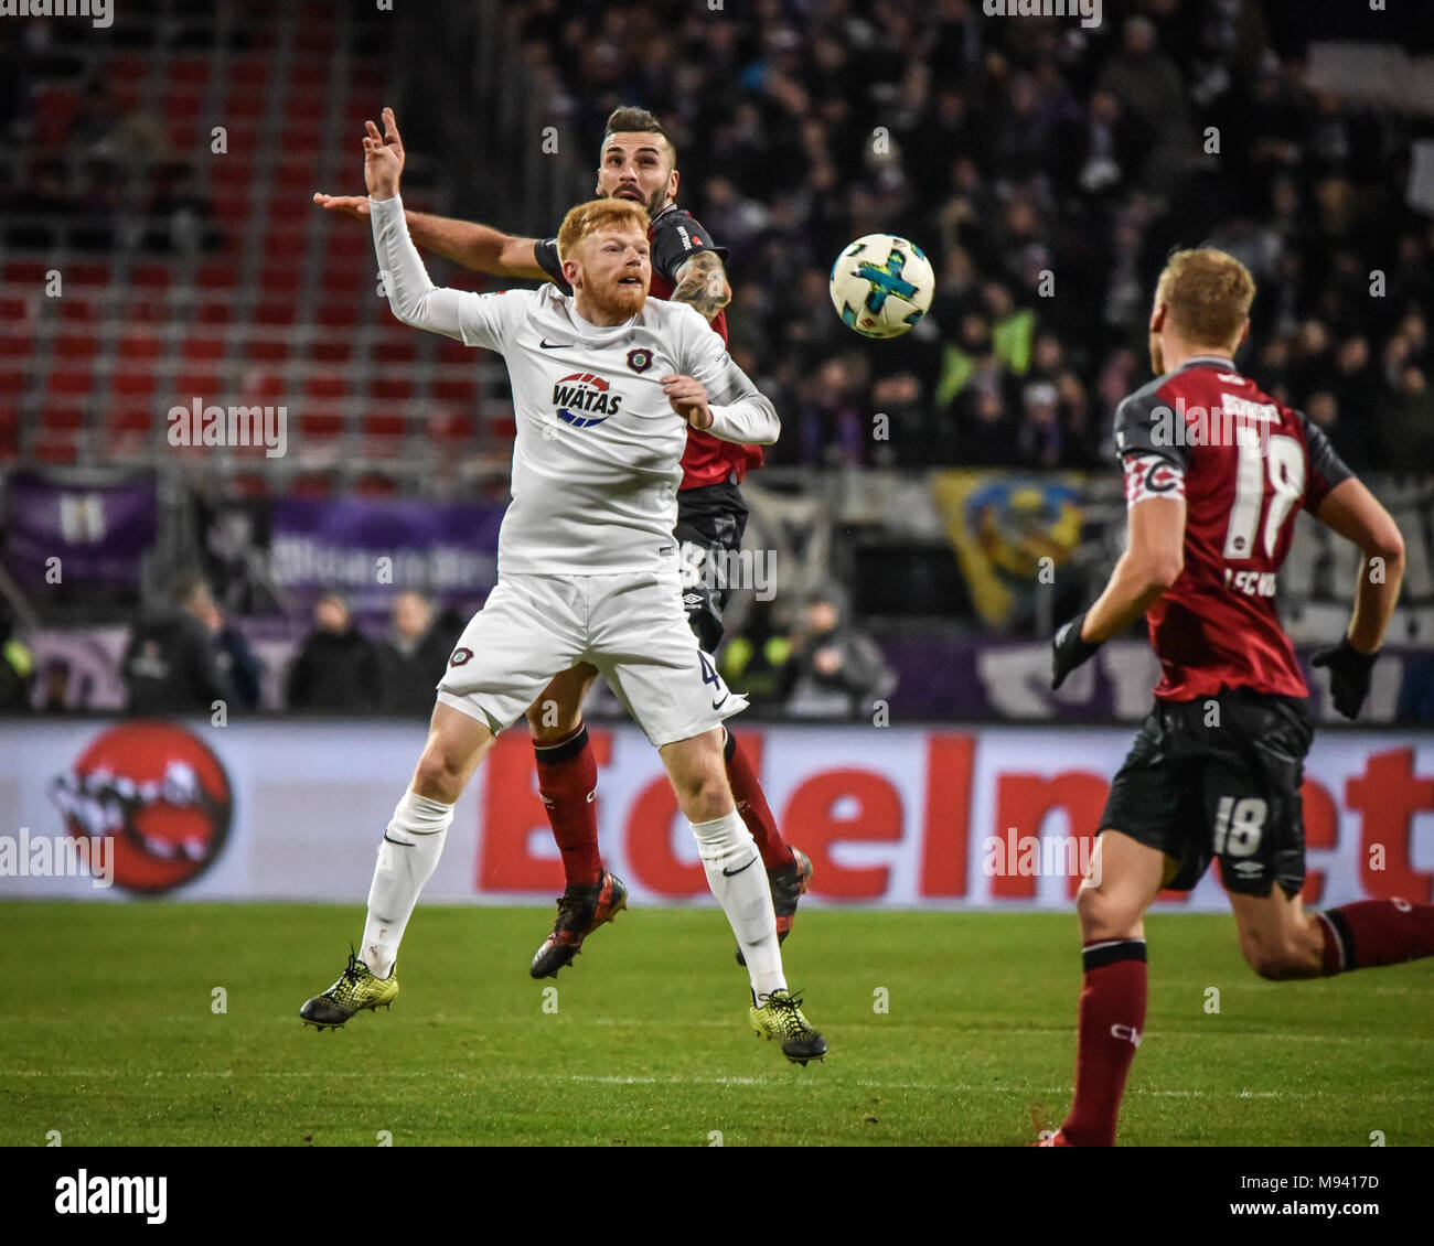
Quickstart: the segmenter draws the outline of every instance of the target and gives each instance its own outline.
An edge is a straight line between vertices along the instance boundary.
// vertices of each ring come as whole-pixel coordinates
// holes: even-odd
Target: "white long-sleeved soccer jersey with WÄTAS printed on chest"
[[[687,423],[660,379],[681,373],[706,386],[716,437],[770,444],[780,427],[707,321],[687,304],[648,298],[628,323],[599,328],[552,284],[499,294],[437,288],[409,238],[402,201],[369,204],[393,314],[508,363],[518,437],[499,574],[674,563]]]

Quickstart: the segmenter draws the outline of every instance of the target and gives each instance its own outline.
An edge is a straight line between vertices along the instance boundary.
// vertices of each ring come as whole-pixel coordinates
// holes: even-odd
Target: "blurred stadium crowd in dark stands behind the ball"
[[[1104,465],[1153,278],[1200,242],[1260,284],[1242,363],[1266,389],[1357,470],[1434,462],[1434,228],[1390,176],[1411,123],[1306,89],[1256,0],[1094,30],[979,0],[509,9],[555,115],[671,129],[680,201],[731,249],[736,357],[783,412],[774,463]],[[938,294],[865,344],[826,281],[878,231],[926,249]]]

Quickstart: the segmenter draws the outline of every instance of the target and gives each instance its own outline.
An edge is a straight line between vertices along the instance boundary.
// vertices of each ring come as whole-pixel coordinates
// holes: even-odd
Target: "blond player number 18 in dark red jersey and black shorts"
[[[1116,413],[1129,546],[1096,604],[1053,642],[1065,677],[1141,614],[1163,678],[1111,784],[1081,923],[1076,1100],[1041,1146],[1113,1146],[1146,1021],[1143,918],[1212,860],[1240,951],[1262,978],[1315,978],[1434,955],[1434,905],[1361,900],[1306,913],[1299,784],[1308,688],[1275,609],[1275,575],[1304,508],[1361,551],[1344,639],[1315,655],[1354,718],[1404,575],[1388,512],[1305,416],[1235,368],[1255,282],[1222,251],[1174,254],[1150,317],[1157,379]]]

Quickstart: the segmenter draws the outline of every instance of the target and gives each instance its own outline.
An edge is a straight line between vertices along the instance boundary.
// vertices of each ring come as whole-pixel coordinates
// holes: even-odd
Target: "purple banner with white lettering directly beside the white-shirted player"
[[[498,582],[502,506],[389,498],[274,503],[270,575],[294,607],[346,594],[356,615],[381,614],[417,589],[443,605],[473,605]]]

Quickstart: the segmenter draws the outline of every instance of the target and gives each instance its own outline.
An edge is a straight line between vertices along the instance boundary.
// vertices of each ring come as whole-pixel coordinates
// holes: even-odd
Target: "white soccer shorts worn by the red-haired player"
[[[601,671],[658,748],[747,707],[687,625],[675,568],[500,576],[449,657],[439,701],[496,734],[578,662]]]

